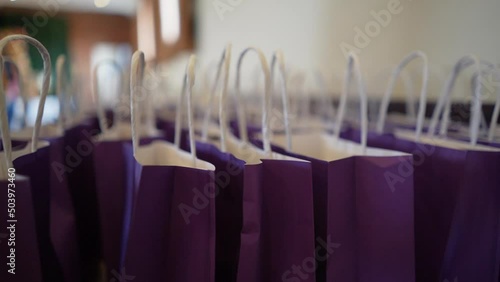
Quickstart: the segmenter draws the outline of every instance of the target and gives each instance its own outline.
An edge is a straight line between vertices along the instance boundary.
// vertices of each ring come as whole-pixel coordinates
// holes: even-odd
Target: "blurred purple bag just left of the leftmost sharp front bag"
[[[109,64],[122,76],[123,70],[115,61],[105,60],[100,62],[94,70],[94,76],[100,65]],[[97,78],[96,78],[97,80]],[[98,88],[94,84],[94,92]],[[121,85],[125,87],[125,85]],[[98,95],[96,95],[98,97]],[[119,97],[122,99],[123,97]],[[122,101],[120,101],[122,102]],[[96,211],[98,211],[97,230],[101,244],[101,255],[106,279],[116,279],[123,264],[124,248],[127,232],[124,230],[132,213],[131,204],[134,195],[129,193],[127,183],[127,150],[126,143],[131,142],[131,125],[123,121],[127,105],[120,103],[113,112],[113,125],[109,126],[106,112],[99,99],[96,99],[99,127],[101,134],[93,138],[93,151],[91,155],[92,175],[96,191]],[[141,128],[141,144],[151,143],[156,139],[163,139],[163,133],[156,130],[151,124]]]

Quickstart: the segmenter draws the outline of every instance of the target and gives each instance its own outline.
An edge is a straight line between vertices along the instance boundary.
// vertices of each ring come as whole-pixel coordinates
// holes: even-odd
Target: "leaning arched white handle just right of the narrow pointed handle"
[[[385,119],[387,117],[387,109],[389,108],[389,102],[391,96],[394,92],[394,87],[396,85],[396,81],[401,73],[401,71],[413,60],[422,59],[423,61],[423,69],[422,69],[422,88],[420,90],[420,105],[418,109],[417,116],[417,128],[415,130],[415,138],[416,140],[420,139],[420,135],[422,134],[422,129],[424,126],[425,119],[425,108],[427,105],[427,85],[429,82],[429,63],[427,60],[427,55],[422,51],[415,51],[406,56],[399,65],[392,72],[392,76],[389,79],[387,90],[385,91],[384,97],[382,99],[382,103],[380,104],[379,116],[377,121],[377,133],[382,134],[384,131]]]

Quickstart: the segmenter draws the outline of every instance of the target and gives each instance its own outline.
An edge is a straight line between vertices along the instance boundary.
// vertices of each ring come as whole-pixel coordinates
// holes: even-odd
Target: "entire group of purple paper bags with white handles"
[[[45,76],[33,129],[9,133],[2,116],[1,281],[499,281],[500,145],[481,138],[480,99],[469,136],[446,130],[458,74],[468,66],[479,78],[493,72],[474,56],[456,64],[427,121],[427,59],[410,54],[372,129],[359,62],[350,55],[330,132],[309,117],[290,124],[283,55],[269,64],[256,48],[238,58],[237,113],[228,118],[228,45],[210,89],[210,99],[219,93],[218,117],[201,113],[195,132],[194,57],[176,118],[158,128],[143,122],[141,52],[131,63],[131,122],[109,126],[98,108],[98,117],[41,126],[50,58],[26,36],[2,39],[0,50],[11,40],[40,50]],[[265,78],[261,124],[247,124],[240,91],[251,52]],[[386,121],[396,79],[415,59],[423,61],[416,125]],[[277,74],[282,130],[270,128]],[[354,75],[361,118],[344,122]],[[481,84],[474,90],[477,98]],[[454,139],[435,136],[437,129]]]

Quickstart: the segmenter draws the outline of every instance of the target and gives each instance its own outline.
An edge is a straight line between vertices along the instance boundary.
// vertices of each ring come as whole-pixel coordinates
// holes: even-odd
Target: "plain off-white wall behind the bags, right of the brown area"
[[[221,2],[236,5],[220,17],[214,3]],[[429,57],[431,96],[440,93],[442,80],[461,56],[475,53],[499,62],[498,0],[199,0],[197,50],[207,63],[219,58],[227,42],[233,43],[235,56],[250,45],[262,48],[268,56],[281,48],[291,66],[342,77],[346,60],[341,44],[355,46],[355,27],[364,30],[374,20],[370,12],[387,10],[388,5],[396,5],[399,12],[378,33],[375,30],[359,52],[372,95],[384,90],[390,68],[416,49]],[[419,87],[419,66],[411,67],[415,87]],[[246,76],[250,79],[251,74]],[[338,92],[341,85],[334,81],[332,90]],[[461,78],[457,92],[462,93],[457,95],[470,89],[468,81]]]

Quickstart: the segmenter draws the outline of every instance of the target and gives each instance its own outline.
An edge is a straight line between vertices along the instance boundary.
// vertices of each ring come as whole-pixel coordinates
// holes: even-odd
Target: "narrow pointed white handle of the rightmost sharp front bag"
[[[366,96],[365,85],[361,70],[359,67],[359,59],[355,53],[350,52],[347,58],[347,71],[344,77],[344,85],[342,86],[342,94],[340,96],[339,110],[335,121],[335,137],[339,139],[342,122],[345,116],[347,95],[349,93],[349,86],[351,84],[351,77],[353,70],[356,74],[358,83],[358,94],[361,104],[361,146],[363,153],[366,152],[366,143],[368,138],[368,98]]]

